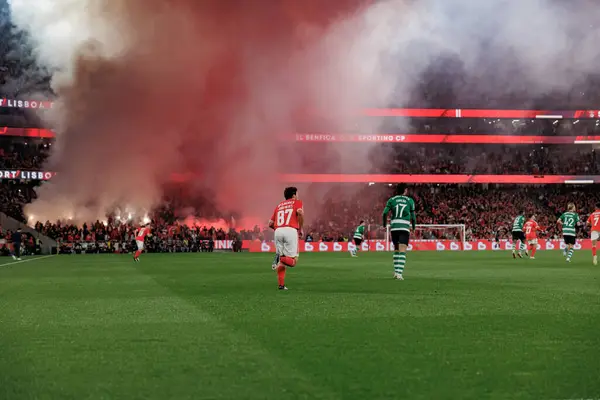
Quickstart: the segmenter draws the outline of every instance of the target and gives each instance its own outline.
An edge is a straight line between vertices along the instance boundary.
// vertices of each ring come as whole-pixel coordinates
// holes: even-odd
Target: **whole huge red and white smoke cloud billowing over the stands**
[[[58,104],[48,168],[59,174],[27,213],[147,211],[180,172],[224,213],[268,214],[279,172],[315,158],[372,162],[373,145],[315,155],[282,134],[344,131],[360,107],[403,106],[440,60],[498,95],[565,90],[595,73],[600,10],[577,3],[12,0]]]

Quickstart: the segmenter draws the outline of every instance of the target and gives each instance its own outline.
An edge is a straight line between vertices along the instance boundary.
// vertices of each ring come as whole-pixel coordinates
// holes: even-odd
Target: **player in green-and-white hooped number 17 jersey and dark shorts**
[[[394,243],[394,279],[404,280],[403,273],[406,266],[406,249],[410,242],[410,232],[415,229],[417,217],[415,214],[415,201],[408,197],[408,188],[405,184],[396,187],[396,195],[390,198],[383,210],[383,227],[387,225],[388,214],[390,232]]]

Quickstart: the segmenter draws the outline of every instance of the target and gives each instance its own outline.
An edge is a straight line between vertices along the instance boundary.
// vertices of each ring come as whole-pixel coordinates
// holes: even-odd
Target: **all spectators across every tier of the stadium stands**
[[[50,78],[36,66],[32,49],[25,45],[24,34],[16,32],[10,24],[8,5],[0,6],[0,97],[19,98],[30,93],[51,95]],[[388,104],[394,107],[429,108],[528,108],[528,109],[597,109],[599,77],[590,77],[575,85],[567,93],[546,93],[531,99],[527,88],[511,93],[497,94],[497,87],[487,87],[488,77],[469,77],[451,71],[448,60],[440,71],[424,72],[411,95],[409,103]],[[482,67],[492,73],[493,65]],[[448,75],[450,74],[450,75]],[[483,79],[483,81],[482,81]],[[462,82],[455,87],[454,81]],[[451,90],[450,90],[451,89]],[[406,100],[406,96],[402,96]],[[485,107],[481,105],[485,104]],[[377,106],[377,105],[375,105]],[[312,124],[314,121],[311,121]],[[34,127],[39,121],[31,113],[19,109],[0,109],[0,126]],[[320,131],[324,121],[317,126],[306,126],[300,131]],[[339,127],[335,127],[336,129]],[[498,134],[574,136],[600,135],[597,119],[581,120],[528,120],[528,119],[454,119],[454,118],[396,118],[358,117],[349,122],[345,133],[391,134]],[[313,145],[313,144],[310,144]],[[318,146],[319,144],[314,144]],[[329,144],[327,144],[329,145]],[[352,146],[361,144],[336,144],[348,146],[337,152],[353,154]],[[0,137],[0,169],[39,170],[43,167],[52,141],[34,138]],[[360,163],[328,164],[309,163],[302,172],[385,173],[385,174],[600,174],[600,160],[591,146],[567,145],[380,145],[373,146],[372,160]],[[320,152],[314,151],[320,157]],[[393,154],[388,157],[390,154]],[[382,156],[382,155],[385,155]],[[379,160],[385,160],[380,163]],[[390,161],[391,160],[391,161]],[[339,160],[338,160],[339,161]],[[343,166],[342,166],[343,165]],[[348,167],[347,165],[350,165]],[[375,167],[373,167],[375,166]],[[314,170],[310,170],[314,168]],[[286,171],[295,172],[295,171]],[[23,205],[35,199],[37,182],[3,179],[0,184],[0,211],[17,220],[26,221]],[[320,189],[319,189],[320,190]],[[306,233],[308,240],[348,240],[360,220],[371,226],[369,235],[381,237],[381,212],[391,188],[387,185],[349,185],[331,188],[325,195],[306,199],[310,204]],[[523,210],[529,217],[538,216],[540,225],[546,227],[546,237],[558,238],[560,232],[556,219],[574,202],[582,216],[593,211],[600,193],[593,188],[567,188],[558,186],[439,186],[423,185],[412,191],[421,224],[464,224],[468,238],[508,238],[516,214]],[[198,209],[207,210],[201,205]],[[211,251],[219,240],[270,239],[272,232],[264,226],[234,229],[236,224],[191,224],[185,222],[189,213],[182,209],[176,198],[165,202],[152,216],[153,236],[148,238],[149,251]],[[222,218],[213,212],[201,215],[205,220]],[[584,219],[585,220],[585,219]],[[116,217],[81,226],[68,222],[38,222],[35,228],[55,239],[63,252],[130,251],[134,242],[135,226],[130,221]],[[0,231],[6,252],[9,232]],[[442,238],[456,235],[447,231],[420,231],[420,237]],[[580,223],[579,236],[588,235],[585,224]],[[35,245],[33,246],[35,249]]]

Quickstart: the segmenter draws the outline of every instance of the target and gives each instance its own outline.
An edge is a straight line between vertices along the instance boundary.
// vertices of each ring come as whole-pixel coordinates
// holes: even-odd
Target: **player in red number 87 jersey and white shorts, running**
[[[298,261],[298,238],[302,237],[304,225],[304,210],[302,201],[298,200],[298,189],[287,187],[283,191],[284,201],[273,211],[269,227],[275,230],[275,247],[279,255],[277,266],[277,281],[279,290],[285,287],[285,270],[296,266]]]

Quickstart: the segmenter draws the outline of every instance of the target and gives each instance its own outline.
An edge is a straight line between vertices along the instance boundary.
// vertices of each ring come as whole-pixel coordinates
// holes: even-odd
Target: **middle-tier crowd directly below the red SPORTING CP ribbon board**
[[[592,145],[458,145],[405,144],[370,148],[369,160],[358,161],[364,143],[311,143],[300,165],[289,173],[345,174],[517,174],[595,175],[600,157]],[[306,155],[304,155],[306,153]],[[328,157],[321,156],[327,154]]]

